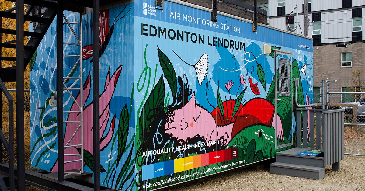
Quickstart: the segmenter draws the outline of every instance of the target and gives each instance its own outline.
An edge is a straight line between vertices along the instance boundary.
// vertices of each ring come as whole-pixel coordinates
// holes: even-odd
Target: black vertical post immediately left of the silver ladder
[[[58,144],[58,181],[64,181],[64,30],[63,9],[61,2],[57,6],[57,144]]]

